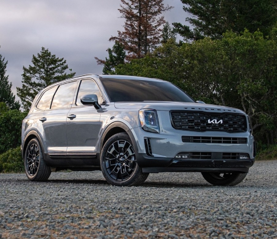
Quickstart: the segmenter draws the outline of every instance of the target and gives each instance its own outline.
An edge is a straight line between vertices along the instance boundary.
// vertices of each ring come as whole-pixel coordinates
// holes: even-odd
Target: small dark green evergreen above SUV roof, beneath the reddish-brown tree
[[[124,60],[126,57],[126,53],[123,47],[123,44],[115,41],[112,49],[108,48],[107,52],[109,54],[109,58],[106,60],[100,60],[98,57],[94,57],[97,60],[98,65],[104,65],[103,74],[104,75],[112,75],[115,74],[115,67],[119,64],[124,64]]]

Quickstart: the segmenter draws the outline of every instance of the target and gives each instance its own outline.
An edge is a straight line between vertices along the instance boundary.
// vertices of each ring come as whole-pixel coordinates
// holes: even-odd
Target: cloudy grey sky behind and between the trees
[[[12,91],[21,87],[22,67],[29,67],[33,55],[48,48],[64,58],[77,75],[102,74],[95,56],[105,59],[108,39],[123,30],[118,11],[120,0],[1,0],[0,54],[8,61],[6,75]],[[185,23],[181,0],[164,0],[174,8],[165,20]],[[69,73],[69,71],[68,71]],[[18,99],[17,95],[16,98]]]

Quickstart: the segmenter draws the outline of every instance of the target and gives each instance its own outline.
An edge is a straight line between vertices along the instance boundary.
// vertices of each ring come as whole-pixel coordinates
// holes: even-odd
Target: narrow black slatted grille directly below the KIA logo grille
[[[182,136],[184,143],[247,144],[247,138]]]

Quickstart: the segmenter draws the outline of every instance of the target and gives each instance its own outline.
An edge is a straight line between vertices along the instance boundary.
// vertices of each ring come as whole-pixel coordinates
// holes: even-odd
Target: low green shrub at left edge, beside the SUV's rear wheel
[[[21,158],[20,147],[9,149],[0,155],[0,172],[24,172],[24,163]]]

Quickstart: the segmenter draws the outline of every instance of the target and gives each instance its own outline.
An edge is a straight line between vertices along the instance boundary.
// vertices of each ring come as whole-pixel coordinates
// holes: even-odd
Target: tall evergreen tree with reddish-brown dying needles
[[[165,23],[161,14],[172,7],[163,0],[121,0],[119,12],[125,18],[124,31],[118,31],[112,41],[119,41],[127,51],[127,60],[142,58],[162,40],[161,26]]]

